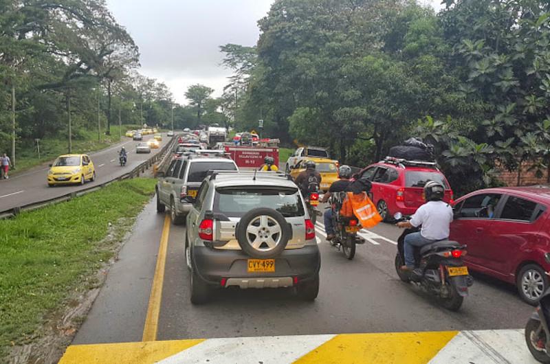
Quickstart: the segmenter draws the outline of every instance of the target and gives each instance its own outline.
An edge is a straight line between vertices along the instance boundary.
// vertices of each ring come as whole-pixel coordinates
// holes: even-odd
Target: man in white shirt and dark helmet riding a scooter
[[[450,223],[452,222],[452,207],[443,201],[445,187],[436,181],[428,181],[424,185],[425,204],[408,221],[397,223],[401,228],[419,227],[417,233],[408,234],[404,240],[405,265],[403,271],[415,269],[415,247],[423,247],[439,240],[449,238]]]

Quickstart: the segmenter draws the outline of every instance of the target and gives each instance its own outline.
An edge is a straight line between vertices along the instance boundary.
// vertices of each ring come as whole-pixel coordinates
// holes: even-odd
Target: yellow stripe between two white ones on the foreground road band
[[[295,363],[428,363],[458,333],[340,334]]]

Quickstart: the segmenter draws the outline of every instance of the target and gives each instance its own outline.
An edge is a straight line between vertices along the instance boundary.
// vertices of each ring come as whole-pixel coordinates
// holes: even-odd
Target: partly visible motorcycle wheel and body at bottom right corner
[[[547,273],[548,275],[549,273]],[[550,363],[550,290],[544,292],[525,325],[525,343],[540,363]]]

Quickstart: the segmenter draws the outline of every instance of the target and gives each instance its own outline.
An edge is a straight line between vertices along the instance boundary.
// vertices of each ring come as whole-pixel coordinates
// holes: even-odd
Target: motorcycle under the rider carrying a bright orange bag
[[[338,192],[331,196],[331,203],[329,207],[336,205],[336,209],[333,210],[332,220],[334,227],[335,238],[331,240],[331,245],[340,248],[346,255],[346,258],[352,260],[355,256],[355,247],[357,244],[364,244],[364,240],[358,238],[357,233],[362,228],[358,218],[355,216],[342,216],[340,214],[340,207],[342,206],[342,201],[344,201],[345,192]]]

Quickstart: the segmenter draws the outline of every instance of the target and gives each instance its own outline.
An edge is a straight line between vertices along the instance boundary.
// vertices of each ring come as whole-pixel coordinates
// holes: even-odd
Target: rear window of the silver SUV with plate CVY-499
[[[228,217],[241,217],[257,207],[272,207],[285,217],[305,214],[297,189],[226,187],[217,189],[214,195],[214,212]]]

